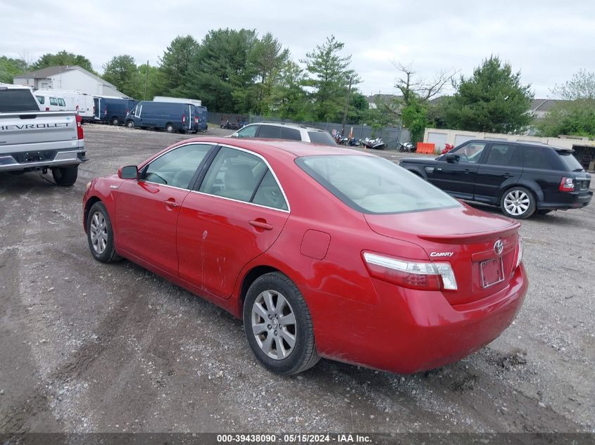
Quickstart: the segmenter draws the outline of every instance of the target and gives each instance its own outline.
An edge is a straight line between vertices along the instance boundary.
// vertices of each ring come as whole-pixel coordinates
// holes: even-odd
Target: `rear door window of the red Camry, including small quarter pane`
[[[274,209],[289,208],[266,163],[256,155],[233,148],[219,150],[199,191]]]

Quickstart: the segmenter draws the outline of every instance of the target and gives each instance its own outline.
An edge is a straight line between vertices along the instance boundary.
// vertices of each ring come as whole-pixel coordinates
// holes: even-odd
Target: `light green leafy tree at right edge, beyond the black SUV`
[[[563,99],[537,121],[540,136],[560,134],[595,137],[595,73],[580,70],[552,90]]]

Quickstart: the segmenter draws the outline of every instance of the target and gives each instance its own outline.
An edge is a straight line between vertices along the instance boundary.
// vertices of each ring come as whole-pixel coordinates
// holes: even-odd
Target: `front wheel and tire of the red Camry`
[[[106,206],[95,202],[87,214],[87,243],[94,259],[102,263],[111,263],[121,259],[115,253],[113,229]]]

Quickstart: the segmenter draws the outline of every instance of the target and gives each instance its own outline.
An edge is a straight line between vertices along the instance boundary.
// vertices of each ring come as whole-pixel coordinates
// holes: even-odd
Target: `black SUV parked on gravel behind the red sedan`
[[[437,158],[408,157],[401,167],[455,198],[499,205],[511,218],[591,202],[591,176],[572,150],[538,143],[467,141]]]

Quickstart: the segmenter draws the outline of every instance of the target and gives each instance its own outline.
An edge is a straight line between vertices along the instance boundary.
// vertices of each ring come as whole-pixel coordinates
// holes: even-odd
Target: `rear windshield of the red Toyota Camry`
[[[461,206],[430,183],[381,157],[305,156],[296,163],[358,212],[386,214]]]

